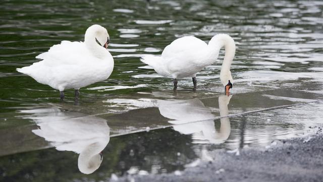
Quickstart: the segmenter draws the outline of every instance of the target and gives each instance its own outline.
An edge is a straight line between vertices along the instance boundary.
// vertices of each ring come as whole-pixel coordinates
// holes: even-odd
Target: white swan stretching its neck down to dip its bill
[[[153,67],[158,74],[174,78],[174,89],[177,88],[178,78],[192,77],[195,90],[196,73],[213,64],[222,47],[225,47],[225,57],[220,79],[228,93],[233,84],[230,66],[236,51],[235,42],[228,34],[217,34],[208,44],[196,37],[184,36],[167,45],[161,56],[148,55],[141,61]]]

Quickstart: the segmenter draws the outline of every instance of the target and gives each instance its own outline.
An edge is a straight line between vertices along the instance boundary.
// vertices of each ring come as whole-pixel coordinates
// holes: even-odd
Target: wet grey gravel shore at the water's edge
[[[200,162],[169,174],[126,175],[110,181],[323,181],[323,134],[277,140],[264,148],[211,153]]]

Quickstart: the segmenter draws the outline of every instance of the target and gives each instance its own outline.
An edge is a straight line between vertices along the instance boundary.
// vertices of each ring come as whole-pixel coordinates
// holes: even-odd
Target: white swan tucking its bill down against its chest
[[[17,68],[37,82],[60,90],[74,88],[75,98],[79,89],[107,79],[114,67],[112,55],[107,51],[109,34],[100,25],[92,25],[85,32],[84,42],[63,40],[53,45],[47,52],[36,56],[42,61],[31,66]]]

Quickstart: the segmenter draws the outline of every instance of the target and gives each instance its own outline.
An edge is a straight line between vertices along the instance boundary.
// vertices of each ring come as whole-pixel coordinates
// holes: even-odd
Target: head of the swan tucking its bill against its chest
[[[88,38],[94,38],[98,44],[107,49],[109,45],[110,36],[107,30],[101,25],[92,25],[87,28],[85,32],[85,41]]]

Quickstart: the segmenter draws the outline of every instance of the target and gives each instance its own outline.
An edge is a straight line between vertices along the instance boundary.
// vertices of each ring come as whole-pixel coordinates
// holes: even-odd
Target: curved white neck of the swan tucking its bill
[[[90,52],[97,58],[104,58],[107,54],[107,50],[103,46],[99,45],[95,38],[97,36],[97,30],[95,27],[89,27],[84,36],[84,43]]]

